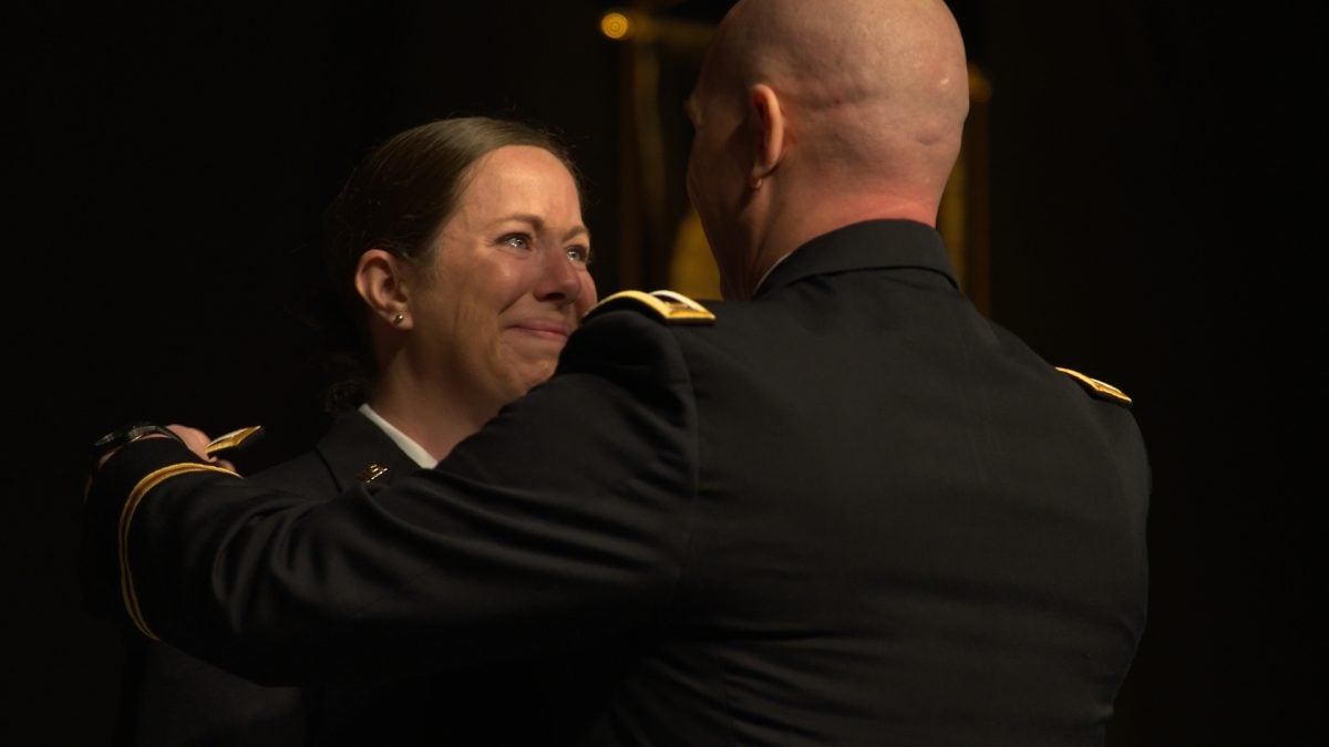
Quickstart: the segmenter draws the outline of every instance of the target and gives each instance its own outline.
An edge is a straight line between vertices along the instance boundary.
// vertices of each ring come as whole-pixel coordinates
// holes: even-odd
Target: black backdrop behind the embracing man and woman
[[[562,130],[601,295],[622,290],[607,3],[270,5],[16,4],[0,25],[3,744],[110,732],[117,633],[74,584],[92,439],[263,423],[256,467],[322,428],[296,302],[369,145],[466,113]],[[1322,743],[1324,3],[953,7],[993,85],[991,315],[1134,396],[1154,461],[1151,618],[1110,743]]]

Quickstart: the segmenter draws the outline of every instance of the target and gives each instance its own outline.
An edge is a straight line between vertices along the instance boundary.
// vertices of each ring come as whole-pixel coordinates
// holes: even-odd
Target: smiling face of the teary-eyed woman
[[[428,257],[407,355],[460,407],[496,411],[548,379],[595,304],[577,185],[541,148],[477,161]]]

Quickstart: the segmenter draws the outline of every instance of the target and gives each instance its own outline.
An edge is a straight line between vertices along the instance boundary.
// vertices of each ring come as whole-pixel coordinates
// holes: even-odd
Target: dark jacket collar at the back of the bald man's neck
[[[916,267],[944,275],[960,288],[941,234],[914,221],[864,221],[804,243],[772,267],[754,298],[812,275]]]

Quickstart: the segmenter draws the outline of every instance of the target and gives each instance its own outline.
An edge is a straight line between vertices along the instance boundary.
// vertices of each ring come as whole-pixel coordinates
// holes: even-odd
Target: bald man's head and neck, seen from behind
[[[857,221],[933,225],[969,112],[941,0],[740,0],[687,102],[688,195],[726,298]]]

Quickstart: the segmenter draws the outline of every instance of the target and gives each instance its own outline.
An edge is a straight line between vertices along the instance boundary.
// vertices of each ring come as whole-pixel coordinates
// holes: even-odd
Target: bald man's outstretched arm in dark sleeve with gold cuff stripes
[[[387,489],[318,502],[169,439],[125,447],[88,497],[85,590],[266,683],[594,641],[670,598],[695,429],[670,331],[606,314],[573,335],[553,380]]]

